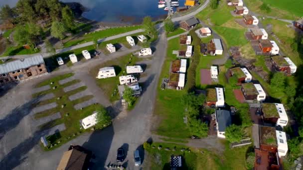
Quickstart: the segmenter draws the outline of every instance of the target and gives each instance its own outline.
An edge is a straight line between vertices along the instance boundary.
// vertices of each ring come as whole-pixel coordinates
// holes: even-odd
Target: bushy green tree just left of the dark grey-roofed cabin
[[[201,122],[201,120],[189,119],[187,126],[192,135],[198,136],[200,138],[207,137],[208,125]]]

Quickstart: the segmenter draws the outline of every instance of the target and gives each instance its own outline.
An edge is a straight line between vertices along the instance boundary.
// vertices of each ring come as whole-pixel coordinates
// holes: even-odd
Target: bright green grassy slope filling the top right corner
[[[271,11],[267,13],[260,9],[262,3],[269,4]],[[303,16],[302,0],[245,0],[249,10],[258,14],[295,20]]]

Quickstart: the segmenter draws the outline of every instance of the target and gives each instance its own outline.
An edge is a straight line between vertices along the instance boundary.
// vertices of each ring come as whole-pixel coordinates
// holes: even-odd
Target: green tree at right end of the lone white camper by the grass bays
[[[112,123],[112,118],[108,114],[108,112],[105,110],[104,107],[99,107],[97,110],[97,124],[96,129],[103,129],[104,127],[110,125]]]

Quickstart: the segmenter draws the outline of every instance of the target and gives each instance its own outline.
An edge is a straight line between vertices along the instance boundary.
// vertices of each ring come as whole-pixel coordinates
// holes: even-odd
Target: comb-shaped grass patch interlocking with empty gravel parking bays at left
[[[38,97],[41,96],[43,94],[47,94],[47,93],[53,93],[55,95],[54,98],[48,99],[48,100],[44,100],[41,101],[39,103],[36,103],[33,105],[33,107],[36,106],[41,106],[44,104],[48,104],[48,103],[52,103],[52,102],[56,102],[57,103],[57,107],[49,109],[49,110],[45,110],[39,113],[36,113],[34,115],[34,118],[39,119],[45,116],[49,116],[52,115],[54,113],[60,112],[61,114],[61,118],[47,122],[45,124],[40,125],[40,129],[41,130],[45,130],[48,128],[51,128],[53,126],[56,126],[58,124],[64,123],[66,130],[61,131],[59,133],[56,133],[54,135],[48,136],[46,137],[46,139],[48,140],[50,145],[53,145],[52,148],[45,148],[45,150],[53,150],[54,148],[59,147],[60,145],[70,141],[73,138],[76,138],[78,135],[80,135],[82,132],[85,132],[85,130],[80,130],[80,123],[79,121],[85,117],[87,117],[88,115],[92,114],[93,111],[96,110],[97,107],[100,106],[100,104],[95,104],[95,105],[90,105],[87,106],[85,108],[83,108],[82,110],[76,110],[73,106],[75,104],[81,103],[83,101],[89,100],[91,98],[93,98],[92,95],[86,95],[83,96],[79,99],[76,99],[74,101],[70,101],[68,96],[73,95],[75,93],[78,93],[80,91],[85,90],[87,87],[86,86],[81,86],[79,88],[76,88],[74,90],[68,91],[68,92],[64,92],[63,88],[67,87],[69,85],[73,85],[76,83],[79,83],[80,80],[73,80],[71,82],[68,82],[66,84],[60,85],[58,82],[60,80],[66,79],[68,77],[73,76],[73,74],[69,73],[69,74],[65,74],[65,75],[61,75],[61,76],[57,76],[54,77],[52,79],[46,80],[44,82],[41,82],[39,84],[36,85],[36,87],[40,87],[43,85],[50,85],[51,87],[56,87],[55,89],[49,89],[49,90],[45,90],[39,93],[35,93],[33,94],[33,97]],[[50,83],[53,82],[53,84],[51,85]],[[58,99],[58,97],[60,97]],[[64,105],[64,107],[62,108],[61,105]]]

